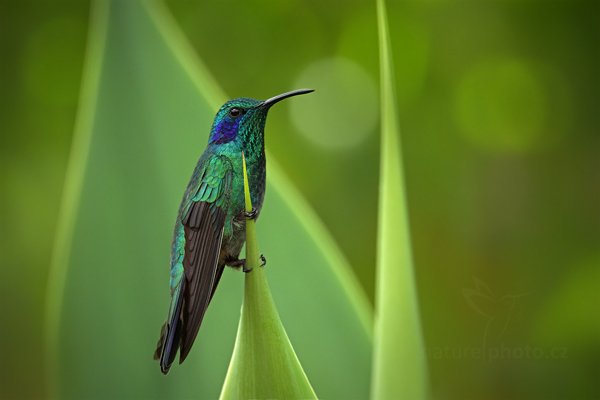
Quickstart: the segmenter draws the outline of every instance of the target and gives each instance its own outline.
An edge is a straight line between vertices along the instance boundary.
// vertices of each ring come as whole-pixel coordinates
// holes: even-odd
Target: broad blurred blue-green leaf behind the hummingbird
[[[219,395],[242,274],[225,272],[184,365],[163,377],[152,352],[167,314],[178,203],[224,99],[161,3],[99,0],[92,7],[49,280],[51,397]],[[368,302],[321,222],[268,158],[257,229],[287,333],[321,396],[365,398]]]

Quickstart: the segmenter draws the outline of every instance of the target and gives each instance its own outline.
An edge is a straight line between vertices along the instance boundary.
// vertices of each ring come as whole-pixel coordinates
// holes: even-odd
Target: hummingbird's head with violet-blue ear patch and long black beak
[[[223,144],[238,137],[262,138],[267,113],[271,106],[288,97],[310,93],[312,89],[299,89],[271,97],[267,100],[233,99],[217,112],[210,132],[209,143]]]

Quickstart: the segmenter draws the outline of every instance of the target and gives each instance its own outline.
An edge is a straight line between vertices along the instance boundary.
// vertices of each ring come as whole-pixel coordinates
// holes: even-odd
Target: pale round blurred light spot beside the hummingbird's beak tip
[[[294,126],[313,144],[326,149],[358,146],[377,124],[377,90],[373,78],[345,58],[317,61],[294,84],[313,88],[310,101],[290,102]]]

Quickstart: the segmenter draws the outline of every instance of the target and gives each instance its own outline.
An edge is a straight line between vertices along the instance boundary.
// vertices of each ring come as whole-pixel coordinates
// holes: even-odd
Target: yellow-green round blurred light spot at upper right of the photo
[[[456,119],[475,145],[526,152],[538,142],[546,117],[541,83],[525,62],[488,60],[467,72],[456,92]]]

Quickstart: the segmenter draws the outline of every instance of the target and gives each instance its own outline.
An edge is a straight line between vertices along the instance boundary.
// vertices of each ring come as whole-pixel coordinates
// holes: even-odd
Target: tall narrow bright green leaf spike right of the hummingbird
[[[381,165],[372,399],[424,399],[427,372],[413,273],[384,0],[377,0],[381,71]]]

